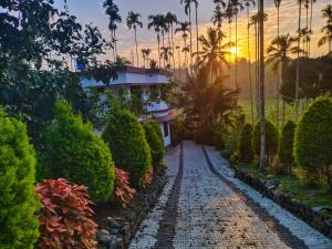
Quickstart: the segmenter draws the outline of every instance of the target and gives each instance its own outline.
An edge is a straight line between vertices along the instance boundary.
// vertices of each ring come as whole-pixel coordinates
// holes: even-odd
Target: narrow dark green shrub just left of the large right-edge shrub
[[[281,137],[279,141],[279,163],[282,165],[282,168],[287,169],[289,173],[291,172],[291,166],[294,164],[293,143],[295,128],[297,125],[294,122],[287,122],[287,124],[282,128]]]

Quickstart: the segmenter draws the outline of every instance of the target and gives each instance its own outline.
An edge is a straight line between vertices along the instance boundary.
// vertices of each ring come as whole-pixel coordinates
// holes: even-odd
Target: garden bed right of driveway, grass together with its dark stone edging
[[[305,187],[299,179],[263,174],[252,165],[236,167],[235,176],[332,239],[331,196],[312,196],[320,189],[307,190],[307,200],[303,200]]]

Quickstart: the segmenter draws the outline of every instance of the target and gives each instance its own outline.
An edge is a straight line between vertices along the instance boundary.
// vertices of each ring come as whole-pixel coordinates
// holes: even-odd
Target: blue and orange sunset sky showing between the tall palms
[[[100,27],[105,38],[108,38],[107,30],[107,17],[104,14],[104,9],[102,7],[104,0],[68,0],[70,12],[75,14],[82,23],[93,22],[95,25]],[[134,35],[132,31],[128,31],[125,27],[125,19],[127,12],[133,10],[142,14],[142,21],[144,28],[138,30],[138,42],[139,51],[143,48],[151,48],[153,50],[152,58],[157,59],[157,42],[156,34],[153,31],[147,30],[147,17],[149,14],[166,13],[167,11],[177,14],[180,21],[187,20],[184,13],[184,8],[179,4],[179,0],[115,0],[117,3],[121,15],[123,18],[123,23],[117,30],[118,38],[118,51],[120,54],[131,59],[132,51],[134,50]],[[272,0],[266,0],[266,12],[268,13],[268,21],[266,23],[266,44],[268,45],[271,39],[277,35],[277,11]],[[280,9],[280,33],[291,33],[294,34],[298,27],[298,0],[283,0]],[[331,2],[331,0],[319,0],[314,4],[313,9],[313,35],[312,35],[312,55],[318,56],[325,54],[328,48],[323,46],[318,49],[317,42],[321,35],[320,29],[324,24],[324,20],[321,18],[321,10]],[[55,4],[61,9],[63,8],[63,0],[55,0]],[[210,19],[212,15],[215,4],[212,0],[200,0],[199,1],[199,33],[204,34],[207,27],[211,25]],[[257,10],[251,9],[250,15]],[[302,10],[302,24],[305,24],[305,9]],[[235,23],[232,23],[232,38],[235,41]],[[239,54],[241,56],[248,58],[247,53],[247,15],[246,11],[241,12],[239,15],[238,24],[238,46]],[[224,25],[224,31],[228,35],[228,25]],[[251,30],[251,44],[253,49],[253,30]],[[183,45],[183,41],[178,35],[176,38],[177,43]],[[228,38],[226,39],[228,41]],[[196,44],[196,43],[194,43]],[[194,46],[195,48],[195,46]],[[251,49],[251,54],[252,54]],[[107,54],[106,56],[111,56]],[[141,60],[142,62],[142,60]]]

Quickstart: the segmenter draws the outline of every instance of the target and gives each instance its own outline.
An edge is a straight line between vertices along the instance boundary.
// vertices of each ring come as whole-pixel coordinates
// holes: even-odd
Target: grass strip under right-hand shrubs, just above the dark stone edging
[[[328,193],[328,185],[319,184],[318,186],[309,186],[303,184],[299,177],[299,170],[294,169],[293,176],[273,175],[271,173],[261,173],[253,164],[247,164],[238,166],[242,170],[250,173],[251,175],[260,179],[276,179],[283,186],[283,191],[293,197],[297,201],[301,201],[309,207],[330,207],[332,208],[332,195]],[[268,177],[268,175],[270,175]]]

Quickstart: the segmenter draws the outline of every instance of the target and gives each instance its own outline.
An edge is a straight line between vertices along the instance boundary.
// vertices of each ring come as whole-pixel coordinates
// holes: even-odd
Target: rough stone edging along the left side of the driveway
[[[124,219],[107,217],[110,229],[97,232],[100,249],[124,249],[128,248],[132,239],[138,230],[142,221],[157,203],[166,184],[166,170],[154,179],[156,187],[145,195],[141,209],[128,212]]]

